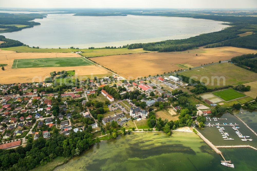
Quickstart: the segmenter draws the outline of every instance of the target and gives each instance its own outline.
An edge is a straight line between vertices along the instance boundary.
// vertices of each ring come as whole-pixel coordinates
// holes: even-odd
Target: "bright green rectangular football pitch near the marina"
[[[222,98],[225,101],[230,101],[230,100],[245,96],[245,94],[237,92],[234,89],[226,89],[226,90],[222,90],[222,91],[217,91],[217,92],[214,92],[213,94],[215,96]]]

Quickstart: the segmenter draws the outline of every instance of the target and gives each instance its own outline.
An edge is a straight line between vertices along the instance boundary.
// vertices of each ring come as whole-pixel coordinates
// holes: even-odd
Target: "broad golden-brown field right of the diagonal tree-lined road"
[[[185,68],[179,67],[178,64],[189,64],[197,67],[201,64],[229,60],[234,56],[248,53],[257,53],[257,50],[230,46],[208,49],[200,47],[199,49],[182,52],[113,55],[91,59],[106,68],[112,69],[125,79],[136,79]]]

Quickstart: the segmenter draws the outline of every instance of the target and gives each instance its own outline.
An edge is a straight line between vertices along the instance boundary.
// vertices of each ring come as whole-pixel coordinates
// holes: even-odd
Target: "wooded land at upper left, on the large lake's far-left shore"
[[[40,23],[34,22],[35,18],[46,17],[47,14],[9,14],[9,13],[0,13],[0,28],[5,28],[6,30],[1,30],[0,33],[6,32],[15,32],[25,28],[33,27],[34,25],[39,25]],[[21,24],[27,25],[25,27],[16,27],[16,26],[5,26],[9,24]]]

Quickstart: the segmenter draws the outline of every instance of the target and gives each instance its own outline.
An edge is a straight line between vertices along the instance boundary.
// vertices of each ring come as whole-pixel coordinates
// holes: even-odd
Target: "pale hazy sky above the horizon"
[[[0,8],[257,8],[257,0],[0,0]]]

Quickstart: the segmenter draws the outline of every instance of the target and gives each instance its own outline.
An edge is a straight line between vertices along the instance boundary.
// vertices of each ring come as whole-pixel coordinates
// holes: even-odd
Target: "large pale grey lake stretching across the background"
[[[40,48],[88,48],[122,46],[170,39],[185,39],[220,31],[221,21],[164,16],[73,16],[48,14],[35,19],[41,25],[17,32],[1,33]]]

